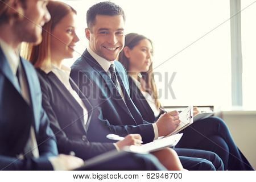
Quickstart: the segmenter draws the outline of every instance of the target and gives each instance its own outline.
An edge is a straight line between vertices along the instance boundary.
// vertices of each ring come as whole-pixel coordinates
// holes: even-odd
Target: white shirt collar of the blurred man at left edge
[[[13,48],[11,48],[5,41],[0,39],[0,47],[2,48],[3,54],[11,67],[11,71],[16,75],[19,66],[19,56]]]

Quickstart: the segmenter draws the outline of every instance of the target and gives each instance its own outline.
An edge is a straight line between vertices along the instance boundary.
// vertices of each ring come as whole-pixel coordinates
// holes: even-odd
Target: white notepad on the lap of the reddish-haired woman
[[[174,147],[181,139],[183,133],[172,135],[170,137],[154,140],[153,142],[141,146],[130,146],[131,152],[147,154],[148,152],[158,151],[164,147]]]

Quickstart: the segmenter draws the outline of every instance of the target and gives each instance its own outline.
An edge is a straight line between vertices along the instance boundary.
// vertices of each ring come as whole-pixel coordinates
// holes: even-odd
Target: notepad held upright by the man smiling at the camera
[[[186,109],[181,111],[181,113],[179,113],[179,117],[179,126],[174,131],[172,131],[172,133],[166,135],[164,138],[179,133],[181,130],[184,130],[186,127],[193,123],[193,106],[188,106]]]

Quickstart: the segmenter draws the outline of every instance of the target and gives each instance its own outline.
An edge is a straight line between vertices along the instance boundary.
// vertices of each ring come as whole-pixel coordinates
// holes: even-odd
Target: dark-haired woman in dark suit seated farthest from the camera
[[[125,47],[119,61],[129,75],[131,99],[146,121],[154,123],[160,116],[160,102],[152,72],[153,47],[150,39],[131,33],[125,36]],[[194,115],[198,110],[194,108]],[[177,148],[213,151],[224,162],[225,170],[253,170],[238,149],[225,122],[218,117],[201,119],[182,131]]]

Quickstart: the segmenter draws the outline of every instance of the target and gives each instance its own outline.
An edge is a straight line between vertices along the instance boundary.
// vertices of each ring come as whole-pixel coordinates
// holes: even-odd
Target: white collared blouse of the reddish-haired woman
[[[61,65],[61,68],[58,68],[56,65],[51,64],[47,68],[41,68],[44,72],[49,73],[53,72],[57,78],[63,83],[65,88],[68,89],[69,93],[75,98],[75,100],[79,103],[79,105],[82,107],[82,110],[84,111],[84,125],[86,125],[88,120],[88,110],[86,109],[84,102],[82,102],[79,95],[76,93],[76,91],[72,88],[70,82],[69,82],[69,75],[71,73],[71,68],[65,67],[64,65]]]

